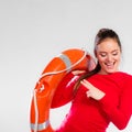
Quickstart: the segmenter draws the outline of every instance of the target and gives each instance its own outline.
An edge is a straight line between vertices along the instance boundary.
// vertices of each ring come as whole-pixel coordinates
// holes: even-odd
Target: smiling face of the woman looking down
[[[116,40],[106,38],[98,44],[96,55],[101,66],[100,74],[111,74],[118,72],[121,50]]]

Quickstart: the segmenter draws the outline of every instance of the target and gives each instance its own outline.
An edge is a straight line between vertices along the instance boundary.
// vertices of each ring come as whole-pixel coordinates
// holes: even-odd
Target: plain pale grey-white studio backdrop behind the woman
[[[92,54],[100,28],[118,32],[121,69],[132,74],[131,13],[131,0],[0,0],[0,132],[30,132],[32,91],[44,67],[66,48]],[[51,113],[53,127],[67,108]],[[130,122],[123,132],[132,131]],[[112,124],[111,131],[119,132]]]

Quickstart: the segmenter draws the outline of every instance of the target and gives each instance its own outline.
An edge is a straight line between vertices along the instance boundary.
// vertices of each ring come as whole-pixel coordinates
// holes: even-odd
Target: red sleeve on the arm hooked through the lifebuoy
[[[51,108],[62,107],[73,99],[73,89],[79,76],[67,74],[59,82],[51,105]]]

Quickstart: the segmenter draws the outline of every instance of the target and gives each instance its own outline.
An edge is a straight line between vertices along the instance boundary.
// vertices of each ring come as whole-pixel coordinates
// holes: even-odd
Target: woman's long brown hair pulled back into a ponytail
[[[122,51],[121,42],[120,42],[118,34],[113,30],[110,30],[110,29],[100,29],[95,38],[95,48],[94,48],[95,56],[97,56],[97,45],[100,44],[106,38],[116,40],[120,50]],[[97,66],[95,67],[94,70],[88,72],[88,73],[84,74],[82,76],[80,76],[79,79],[77,80],[77,82],[75,84],[74,95],[78,90],[80,81],[82,79],[91,77],[92,75],[97,74],[100,69],[101,69],[101,66],[100,66],[99,62],[97,62]]]

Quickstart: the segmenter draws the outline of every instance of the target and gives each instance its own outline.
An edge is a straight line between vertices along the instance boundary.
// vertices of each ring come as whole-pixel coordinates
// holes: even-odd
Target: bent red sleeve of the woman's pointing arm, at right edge
[[[112,103],[110,95],[106,95],[99,102],[102,110],[107,113],[112,123],[119,129],[123,130],[132,114],[132,78],[125,81],[124,89],[120,97],[120,105],[117,107]]]

